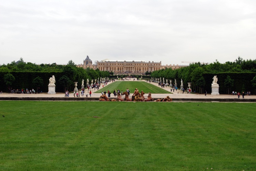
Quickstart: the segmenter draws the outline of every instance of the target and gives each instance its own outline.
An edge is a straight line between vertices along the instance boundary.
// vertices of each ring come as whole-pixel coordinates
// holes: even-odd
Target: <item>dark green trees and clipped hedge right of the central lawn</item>
[[[256,60],[243,60],[238,57],[234,62],[210,64],[190,63],[189,66],[172,70],[171,68],[161,69],[151,73],[151,77],[177,80],[177,87],[183,80],[184,87],[188,82],[192,83],[193,91],[203,93],[211,92],[213,76],[217,75],[220,93],[229,94],[234,91],[255,92],[256,88]]]

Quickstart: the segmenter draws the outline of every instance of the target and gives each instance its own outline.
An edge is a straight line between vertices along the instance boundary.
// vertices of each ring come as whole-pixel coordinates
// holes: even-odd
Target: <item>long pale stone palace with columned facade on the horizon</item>
[[[160,62],[154,61],[111,61],[111,60],[102,60],[96,61],[95,64],[87,56],[83,64],[76,65],[77,67],[93,68],[99,69],[100,71],[109,71],[109,72],[129,72],[129,73],[144,73],[144,72],[153,72],[160,69],[172,68],[178,69],[181,67],[186,67],[188,65],[162,65]]]

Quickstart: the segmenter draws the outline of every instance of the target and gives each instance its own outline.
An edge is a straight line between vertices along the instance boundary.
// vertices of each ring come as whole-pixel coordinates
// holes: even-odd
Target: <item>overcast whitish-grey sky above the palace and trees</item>
[[[255,0],[0,0],[0,64],[255,60]]]

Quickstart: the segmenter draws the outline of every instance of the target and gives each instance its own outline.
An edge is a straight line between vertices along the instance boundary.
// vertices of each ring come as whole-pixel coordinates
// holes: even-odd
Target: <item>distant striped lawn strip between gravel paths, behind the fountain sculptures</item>
[[[102,87],[102,85],[101,85]],[[152,94],[166,94],[166,93],[170,93],[170,87],[167,87],[165,89],[162,89],[161,87],[157,87],[154,86],[151,83],[148,82],[144,82],[144,81],[115,81],[109,85],[106,86],[106,88],[103,88],[99,91],[96,91],[96,93],[101,93],[101,91],[104,92],[104,90],[106,92],[108,92],[108,90],[113,93],[114,90],[117,91],[117,89],[119,89],[120,91],[123,90],[123,92],[126,91],[126,89],[130,90],[130,94],[132,95],[134,93],[134,90],[137,88],[139,90],[139,92],[141,92],[141,90],[143,90],[143,92],[145,94],[147,94],[148,92],[151,92]]]

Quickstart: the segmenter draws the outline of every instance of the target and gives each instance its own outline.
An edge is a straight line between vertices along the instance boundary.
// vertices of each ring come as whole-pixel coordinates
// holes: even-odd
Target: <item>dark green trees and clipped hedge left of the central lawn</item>
[[[37,90],[40,88],[40,91],[48,92],[49,78],[52,75],[56,79],[56,92],[73,91],[74,82],[78,82],[77,88],[81,89],[83,79],[86,85],[87,79],[92,80],[110,76],[108,71],[76,67],[72,60],[67,65],[57,65],[56,63],[37,65],[24,62],[20,58],[18,63],[13,61],[6,65],[0,65],[0,91],[5,92],[9,88],[15,90]]]

